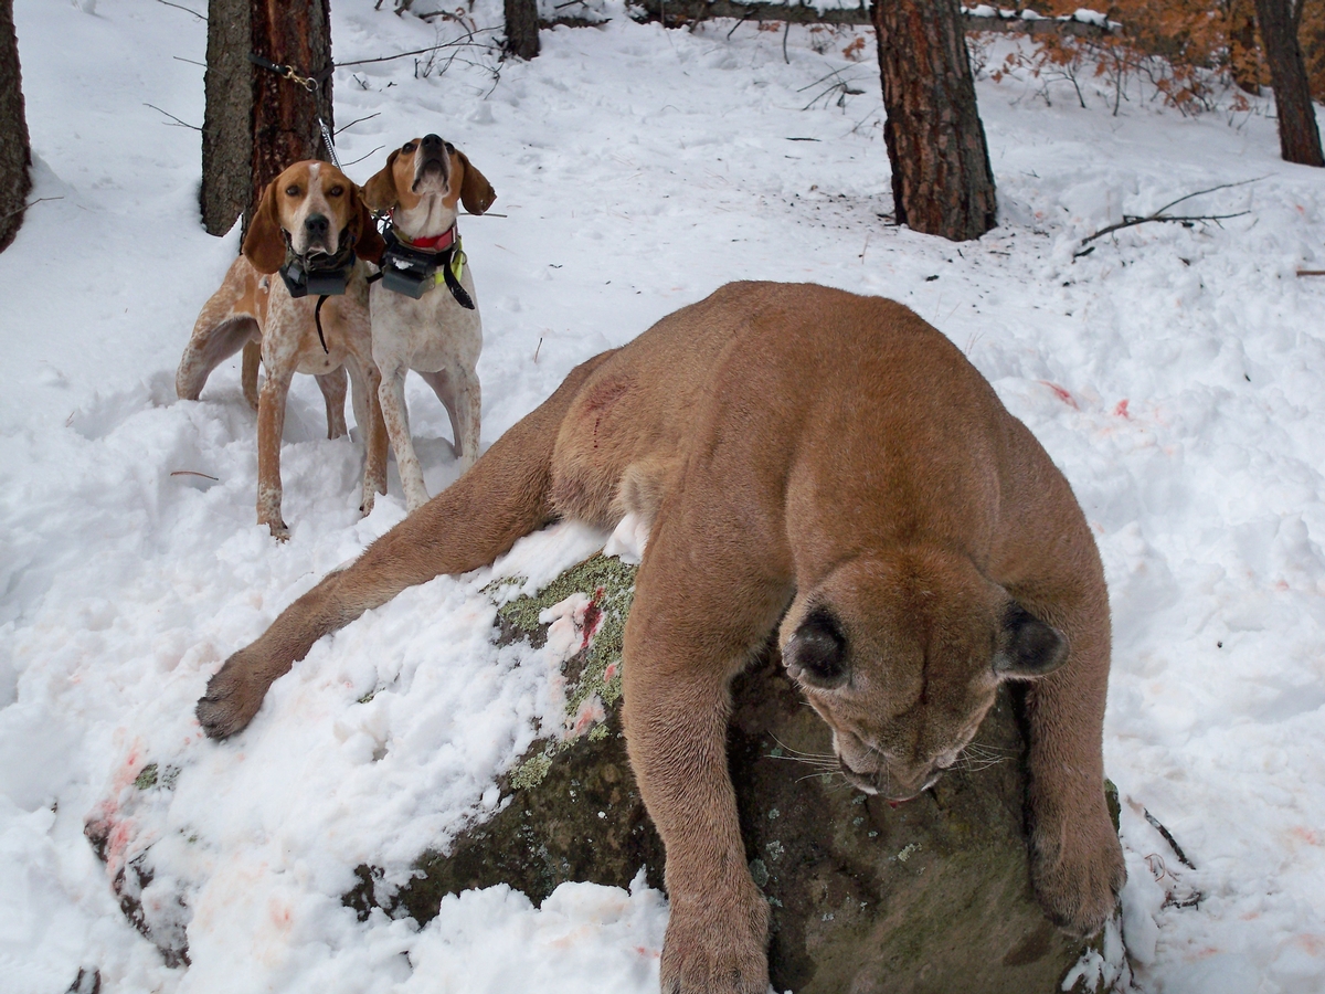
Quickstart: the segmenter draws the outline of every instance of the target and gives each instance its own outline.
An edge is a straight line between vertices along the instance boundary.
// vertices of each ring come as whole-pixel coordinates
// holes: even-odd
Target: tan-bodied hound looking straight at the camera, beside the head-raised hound
[[[368,274],[364,260],[382,257],[383,243],[360,190],[325,162],[299,162],[277,176],[244,237],[221,288],[203,306],[175,375],[182,399],[196,400],[208,375],[244,349],[244,395],[257,407],[257,520],[277,538],[289,529],[281,518],[281,431],[285,400],[295,372],[318,378],[327,403],[327,437],[346,433],[346,370],[354,386],[354,415],[364,435],[364,514],[376,493],[387,490],[387,435],[378,402],[380,375],[372,362]],[[309,273],[313,290],[292,297],[285,277],[292,264]],[[339,278],[344,293],[325,298],[318,274]],[[319,329],[321,321],[321,329]],[[266,378],[257,390],[261,343]]]

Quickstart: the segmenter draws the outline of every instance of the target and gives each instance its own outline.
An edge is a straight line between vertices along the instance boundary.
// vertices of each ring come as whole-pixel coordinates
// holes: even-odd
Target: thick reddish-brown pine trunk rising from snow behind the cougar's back
[[[958,0],[874,0],[898,224],[953,241],[996,224]]]

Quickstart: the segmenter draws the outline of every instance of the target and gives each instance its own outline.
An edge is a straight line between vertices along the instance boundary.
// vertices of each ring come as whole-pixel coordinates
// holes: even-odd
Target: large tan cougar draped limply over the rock
[[[951,765],[1002,680],[1031,680],[1034,883],[1067,928],[1105,921],[1124,865],[1102,786],[1109,608],[1094,542],[1026,427],[892,301],[733,284],[580,366],[235,653],[199,701],[203,726],[244,728],[318,637],[404,587],[488,563],[556,516],[611,525],[636,501],[656,513],[624,716],[666,844],[664,991],[766,989],[767,907],[725,733],[729,681],[774,631],[844,773],[888,797]]]

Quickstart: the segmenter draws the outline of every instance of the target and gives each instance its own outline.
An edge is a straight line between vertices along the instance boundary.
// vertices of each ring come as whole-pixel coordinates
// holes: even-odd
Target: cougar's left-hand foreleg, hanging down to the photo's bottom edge
[[[768,905],[746,868],[727,773],[729,683],[790,586],[755,573],[761,557],[737,541],[694,542],[668,510],[636,575],[621,665],[631,767],[666,847],[662,991],[765,994]]]

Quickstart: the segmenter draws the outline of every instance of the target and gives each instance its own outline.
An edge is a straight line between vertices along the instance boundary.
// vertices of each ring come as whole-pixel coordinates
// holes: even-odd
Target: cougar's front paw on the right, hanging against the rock
[[[1113,823],[1101,810],[1068,819],[1065,831],[1044,828],[1032,839],[1036,896],[1056,925],[1075,936],[1093,936],[1113,916],[1128,879]]]

